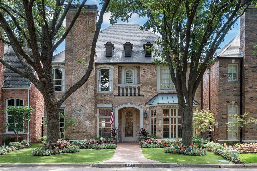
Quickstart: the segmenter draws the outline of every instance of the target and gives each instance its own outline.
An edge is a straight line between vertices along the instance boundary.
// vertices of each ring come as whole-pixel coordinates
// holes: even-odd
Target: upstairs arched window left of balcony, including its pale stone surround
[[[111,93],[112,92],[112,72],[113,66],[97,66],[97,92]]]

